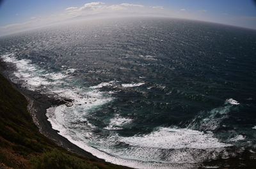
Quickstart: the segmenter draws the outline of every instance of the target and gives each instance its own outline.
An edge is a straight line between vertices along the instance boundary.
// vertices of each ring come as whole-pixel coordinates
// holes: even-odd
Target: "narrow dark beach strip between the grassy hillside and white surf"
[[[59,135],[57,130],[52,129],[51,122],[47,121],[46,110],[53,105],[62,105],[60,103],[61,100],[49,98],[48,96],[40,94],[36,91],[29,91],[28,89],[21,87],[19,84],[13,83],[6,71],[7,68],[8,66],[3,61],[0,61],[1,75],[3,75],[10,82],[10,84],[12,84],[15,89],[17,89],[17,91],[25,96],[28,101],[28,112],[33,118],[34,124],[40,133],[42,133],[42,135],[45,135],[47,138],[51,139],[54,143],[56,143],[56,145],[67,149],[67,151],[73,152],[80,156],[84,156],[86,158],[93,158],[96,161],[105,161],[104,159],[93,156],[90,152],[84,151],[84,149],[81,149],[74,143],[71,143],[64,136]]]

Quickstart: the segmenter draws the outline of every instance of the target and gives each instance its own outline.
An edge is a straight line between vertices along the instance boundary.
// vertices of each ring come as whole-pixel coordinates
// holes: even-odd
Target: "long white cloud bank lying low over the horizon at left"
[[[141,4],[131,3],[109,5],[103,2],[85,3],[83,6],[70,6],[63,9],[63,11],[49,13],[49,15],[31,17],[24,20],[24,22],[0,26],[0,34],[10,34],[36,27],[91,17],[170,16],[170,13],[163,9],[163,6],[143,6]]]

